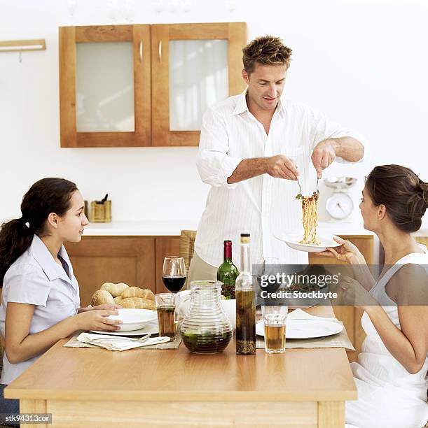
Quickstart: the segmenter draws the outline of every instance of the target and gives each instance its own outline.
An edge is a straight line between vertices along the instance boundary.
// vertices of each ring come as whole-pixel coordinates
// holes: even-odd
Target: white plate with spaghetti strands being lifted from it
[[[331,236],[318,236],[317,223],[318,223],[318,192],[313,192],[309,197],[304,197],[301,194],[296,196],[296,199],[301,199],[302,203],[302,223],[303,223],[303,236],[302,234],[289,234],[286,236],[277,236],[275,238],[284,241],[289,247],[298,251],[305,252],[322,252],[327,247],[338,247],[337,243]]]

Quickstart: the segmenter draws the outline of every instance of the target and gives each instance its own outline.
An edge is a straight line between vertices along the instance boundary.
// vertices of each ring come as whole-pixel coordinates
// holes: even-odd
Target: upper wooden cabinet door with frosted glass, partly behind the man
[[[151,26],[152,145],[198,145],[209,106],[242,92],[247,24]]]

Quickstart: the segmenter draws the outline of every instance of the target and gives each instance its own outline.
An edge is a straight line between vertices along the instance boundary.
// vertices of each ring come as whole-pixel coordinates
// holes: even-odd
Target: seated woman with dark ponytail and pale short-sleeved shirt
[[[64,242],[79,242],[88,219],[76,185],[43,178],[22,199],[22,217],[0,230],[0,332],[6,346],[0,413],[18,413],[3,390],[60,338],[76,330],[114,331],[116,305],[81,308],[78,283]]]

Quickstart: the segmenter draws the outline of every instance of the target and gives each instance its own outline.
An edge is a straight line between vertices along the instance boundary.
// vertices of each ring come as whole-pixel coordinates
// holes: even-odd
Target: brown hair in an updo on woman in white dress
[[[385,205],[389,218],[401,231],[420,229],[428,207],[428,183],[409,168],[381,165],[366,177],[366,190],[375,206]]]

